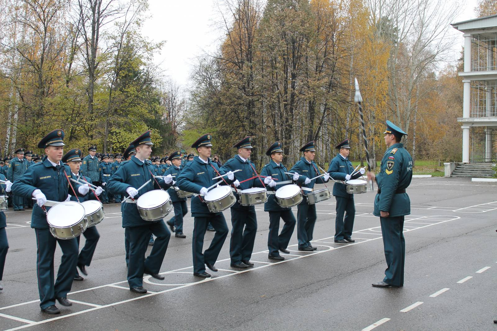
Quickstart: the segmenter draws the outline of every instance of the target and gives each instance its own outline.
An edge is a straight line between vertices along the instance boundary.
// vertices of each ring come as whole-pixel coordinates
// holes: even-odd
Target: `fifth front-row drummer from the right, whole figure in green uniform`
[[[207,194],[207,187],[216,183],[212,178],[225,174],[225,172],[219,169],[210,159],[212,147],[210,134],[203,135],[197,139],[191,147],[197,149],[199,156],[189,162],[181,171],[179,177],[177,177],[177,185],[183,191],[200,193],[200,195],[191,199],[191,215],[194,217],[192,238],[193,274],[197,277],[206,278],[211,275],[205,272],[205,265],[212,271],[217,271],[214,263],[216,263],[228,235],[228,226],[223,213],[211,213],[201,196]],[[228,171],[226,174],[227,176],[223,177],[224,180],[221,184],[231,185],[236,179],[235,175],[232,171]],[[202,254],[205,231],[209,222],[216,229],[216,234],[209,248]]]

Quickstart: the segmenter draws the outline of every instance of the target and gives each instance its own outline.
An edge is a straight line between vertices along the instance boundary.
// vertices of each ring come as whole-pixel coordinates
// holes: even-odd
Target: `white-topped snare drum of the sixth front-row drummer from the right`
[[[153,190],[140,195],[136,206],[145,221],[161,220],[172,210],[171,198],[165,190]]]

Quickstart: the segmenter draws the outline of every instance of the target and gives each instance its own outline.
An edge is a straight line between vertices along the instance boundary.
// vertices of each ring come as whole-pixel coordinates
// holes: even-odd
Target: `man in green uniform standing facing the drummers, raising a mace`
[[[413,158],[401,144],[407,135],[401,128],[387,121],[385,144],[387,151],[381,160],[377,176],[368,172],[368,179],[376,180],[378,193],[374,199],[375,216],[380,217],[387,269],[385,278],[371,285],[375,287],[404,286],[404,216],[411,214],[411,200],[406,188],[413,178]]]

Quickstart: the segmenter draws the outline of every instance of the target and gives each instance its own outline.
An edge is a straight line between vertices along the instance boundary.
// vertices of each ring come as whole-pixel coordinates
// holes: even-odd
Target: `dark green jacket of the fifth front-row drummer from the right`
[[[212,166],[211,166],[212,165]],[[200,189],[202,187],[209,187],[214,185],[220,179],[212,178],[217,177],[218,174],[214,171],[213,166],[216,168],[217,172],[220,174],[225,174],[225,172],[219,169],[218,165],[209,158],[207,160],[207,164],[200,160],[199,157],[193,158],[193,161],[188,162],[186,166],[183,168],[183,171],[176,177],[176,184],[179,189],[192,192],[192,193],[200,193]],[[227,176],[225,176],[225,181],[228,184],[232,184],[236,179],[236,173],[233,180],[229,180]],[[221,182],[220,185],[226,185],[224,181]],[[202,217],[202,216],[212,216],[219,213],[211,213],[207,208],[207,204],[202,202],[199,196],[194,196],[191,198],[191,216],[193,217]]]

